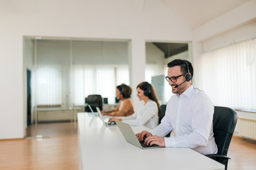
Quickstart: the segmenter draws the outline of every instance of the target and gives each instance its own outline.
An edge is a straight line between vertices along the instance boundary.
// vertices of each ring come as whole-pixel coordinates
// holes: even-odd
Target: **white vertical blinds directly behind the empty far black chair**
[[[115,103],[115,81],[117,85],[123,83],[129,85],[129,69],[128,65],[124,64],[74,64],[72,77],[74,78],[72,91],[75,104],[84,103],[84,98],[90,94],[100,94],[103,98],[108,98],[108,103]]]

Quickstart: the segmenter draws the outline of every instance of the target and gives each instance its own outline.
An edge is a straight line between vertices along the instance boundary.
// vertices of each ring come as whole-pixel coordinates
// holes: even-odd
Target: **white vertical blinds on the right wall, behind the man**
[[[256,40],[201,55],[203,89],[215,106],[256,111]]]

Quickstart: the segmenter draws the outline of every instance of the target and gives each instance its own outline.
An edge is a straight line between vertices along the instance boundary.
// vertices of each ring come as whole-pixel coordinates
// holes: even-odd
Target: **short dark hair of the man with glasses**
[[[187,69],[186,62],[187,62],[188,67],[189,67],[189,73],[191,74],[191,78],[193,78],[194,69],[193,69],[193,66],[192,66],[191,62],[189,62],[188,60],[180,60],[180,59],[172,60],[172,62],[169,62],[167,64],[167,67],[180,66],[182,74],[187,74],[188,73],[188,69]]]

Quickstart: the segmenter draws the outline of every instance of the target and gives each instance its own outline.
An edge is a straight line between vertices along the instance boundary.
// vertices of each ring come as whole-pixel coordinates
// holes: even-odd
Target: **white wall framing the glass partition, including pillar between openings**
[[[0,21],[0,139],[25,136],[23,36],[130,40],[133,88],[145,77],[145,40],[191,41],[193,36],[162,1],[145,6],[137,0],[1,1]]]

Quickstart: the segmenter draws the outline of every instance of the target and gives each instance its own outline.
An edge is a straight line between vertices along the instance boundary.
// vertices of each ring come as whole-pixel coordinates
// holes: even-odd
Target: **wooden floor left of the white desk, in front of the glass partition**
[[[1,140],[1,170],[78,169],[77,136]]]

